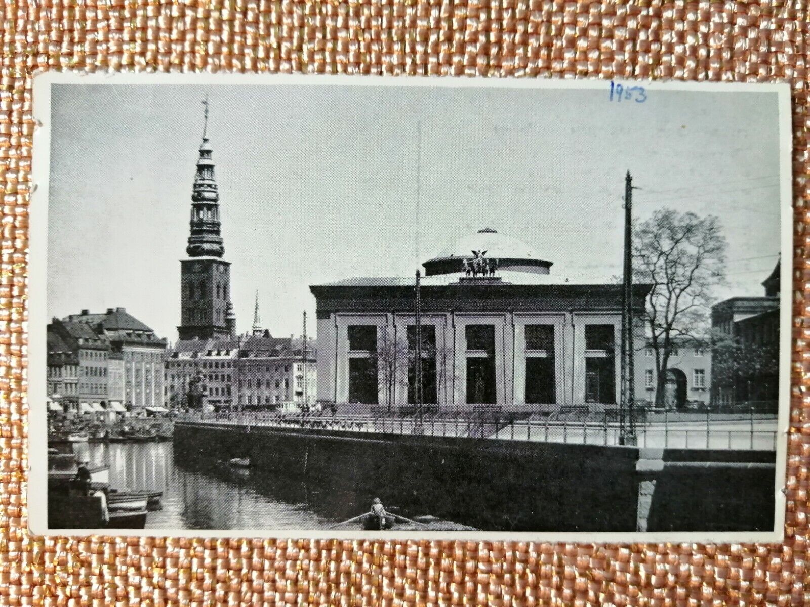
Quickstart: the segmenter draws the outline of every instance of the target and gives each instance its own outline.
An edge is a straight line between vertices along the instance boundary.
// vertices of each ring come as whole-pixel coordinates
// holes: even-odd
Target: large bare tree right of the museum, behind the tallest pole
[[[676,340],[708,340],[712,289],[725,280],[726,249],[714,215],[659,209],[634,227],[633,278],[652,285],[645,320],[655,353],[656,405],[664,401]]]

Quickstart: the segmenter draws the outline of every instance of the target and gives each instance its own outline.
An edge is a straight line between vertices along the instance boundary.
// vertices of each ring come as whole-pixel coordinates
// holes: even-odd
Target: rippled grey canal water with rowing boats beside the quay
[[[342,490],[226,462],[183,461],[174,456],[171,442],[64,444],[60,451],[71,448],[92,465],[109,464],[113,487],[163,491],[163,509],[149,513],[146,528],[324,529],[368,511],[375,497],[362,487]],[[386,507],[403,516],[429,514]]]

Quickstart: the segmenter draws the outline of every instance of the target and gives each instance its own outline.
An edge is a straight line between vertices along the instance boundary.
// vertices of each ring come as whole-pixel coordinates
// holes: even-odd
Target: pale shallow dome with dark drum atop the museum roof
[[[533,248],[514,236],[501,234],[490,227],[485,227],[474,234],[463,236],[438,257],[433,257],[424,264],[424,274],[455,274],[464,271],[464,261],[475,258],[480,253],[484,259],[497,260],[499,270],[510,272],[527,272],[531,274],[548,274],[551,261],[539,257]]]

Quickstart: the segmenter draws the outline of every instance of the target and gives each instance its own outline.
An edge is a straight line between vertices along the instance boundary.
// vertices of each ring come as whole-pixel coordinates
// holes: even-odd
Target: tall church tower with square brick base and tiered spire
[[[214,160],[208,142],[208,99],[205,106],[203,144],[197,160],[191,194],[191,233],[180,261],[181,339],[228,339],[235,333],[236,319],[230,297],[231,264],[222,256],[220,193],[214,180]]]

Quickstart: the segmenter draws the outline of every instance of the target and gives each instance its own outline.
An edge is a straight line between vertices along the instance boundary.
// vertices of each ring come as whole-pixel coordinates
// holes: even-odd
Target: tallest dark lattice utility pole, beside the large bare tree
[[[621,309],[621,403],[619,412],[619,443],[636,444],[635,377],[633,344],[633,176],[625,175],[625,267]],[[628,417],[625,426],[625,414]]]

